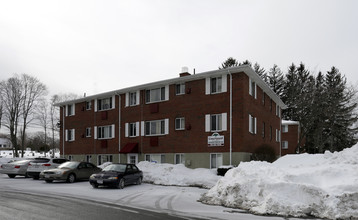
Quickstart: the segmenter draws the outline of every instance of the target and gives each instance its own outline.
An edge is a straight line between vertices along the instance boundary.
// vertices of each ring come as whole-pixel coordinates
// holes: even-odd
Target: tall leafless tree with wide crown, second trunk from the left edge
[[[27,125],[32,121],[34,105],[47,94],[47,88],[37,78],[27,74],[21,75],[22,82],[22,130],[21,130],[21,156],[24,156]]]

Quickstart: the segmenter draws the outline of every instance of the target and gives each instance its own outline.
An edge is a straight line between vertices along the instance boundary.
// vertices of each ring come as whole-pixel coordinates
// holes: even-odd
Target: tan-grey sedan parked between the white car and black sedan
[[[76,180],[89,179],[89,177],[101,171],[101,168],[92,163],[68,161],[59,165],[55,169],[44,170],[40,173],[40,178],[47,183],[54,180],[65,180],[68,183],[73,183]]]

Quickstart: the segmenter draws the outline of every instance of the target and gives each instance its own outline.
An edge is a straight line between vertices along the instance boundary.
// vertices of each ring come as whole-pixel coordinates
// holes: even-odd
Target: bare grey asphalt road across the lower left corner
[[[90,200],[0,190],[1,220],[178,220],[182,217]]]

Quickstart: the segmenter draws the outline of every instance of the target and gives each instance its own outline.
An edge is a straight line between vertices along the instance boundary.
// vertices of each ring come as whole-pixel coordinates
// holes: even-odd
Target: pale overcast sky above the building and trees
[[[217,69],[228,57],[358,82],[355,0],[0,0],[0,80],[94,95]]]

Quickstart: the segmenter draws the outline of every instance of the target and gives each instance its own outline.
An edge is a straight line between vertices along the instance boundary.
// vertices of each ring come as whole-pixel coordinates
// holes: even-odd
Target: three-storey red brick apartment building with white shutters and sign
[[[281,153],[280,98],[250,66],[180,77],[58,103],[61,155],[216,168]]]

